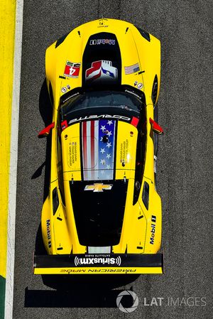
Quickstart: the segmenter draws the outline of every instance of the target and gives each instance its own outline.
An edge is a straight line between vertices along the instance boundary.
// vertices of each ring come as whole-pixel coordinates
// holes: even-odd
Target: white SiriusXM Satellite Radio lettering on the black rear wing
[[[75,266],[84,266],[84,265],[121,265],[121,257],[110,257],[110,256],[102,256],[102,255],[94,255],[94,256],[85,256],[85,257],[77,257],[75,256]]]

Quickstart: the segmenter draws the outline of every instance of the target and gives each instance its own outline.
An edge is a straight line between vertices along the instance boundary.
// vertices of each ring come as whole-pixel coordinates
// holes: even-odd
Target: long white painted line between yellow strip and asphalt
[[[13,99],[11,109],[11,154],[9,171],[9,213],[7,233],[5,319],[13,318],[13,279],[16,229],[16,179],[18,158],[18,116],[21,84],[21,46],[23,27],[23,0],[16,0],[16,30],[13,59]]]

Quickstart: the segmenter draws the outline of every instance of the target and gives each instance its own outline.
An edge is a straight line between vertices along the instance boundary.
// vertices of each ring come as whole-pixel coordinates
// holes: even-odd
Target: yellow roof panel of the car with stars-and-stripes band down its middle
[[[112,116],[82,121],[61,134],[65,180],[133,178],[138,130]]]

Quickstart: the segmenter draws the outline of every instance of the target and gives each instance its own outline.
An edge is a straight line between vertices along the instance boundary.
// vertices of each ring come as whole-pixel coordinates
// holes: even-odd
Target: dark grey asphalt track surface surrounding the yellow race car
[[[14,319],[212,318],[211,4],[210,0],[25,1]],[[136,23],[161,40],[158,121],[165,135],[159,139],[158,192],[163,202],[165,274],[107,282],[79,277],[63,282],[62,289],[55,279],[43,281],[32,274],[48,175],[47,141],[37,138],[48,121],[44,115],[48,109],[43,85],[45,48],[72,28],[102,16]],[[124,289],[133,290],[139,298],[132,313],[116,307],[116,296]],[[153,298],[164,299],[162,306],[159,299],[158,306],[145,306],[144,298],[146,304]],[[171,298],[175,306],[168,305]]]

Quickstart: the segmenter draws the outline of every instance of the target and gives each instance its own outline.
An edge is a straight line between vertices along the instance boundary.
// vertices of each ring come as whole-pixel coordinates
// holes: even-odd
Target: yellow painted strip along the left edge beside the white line
[[[0,6],[0,275],[5,278],[16,1],[0,0]]]

